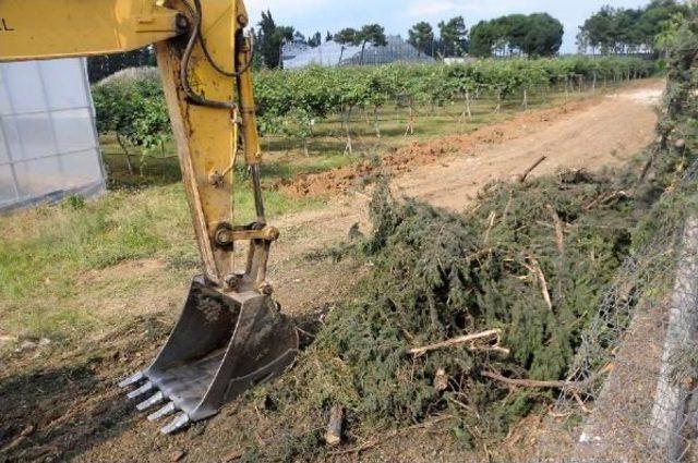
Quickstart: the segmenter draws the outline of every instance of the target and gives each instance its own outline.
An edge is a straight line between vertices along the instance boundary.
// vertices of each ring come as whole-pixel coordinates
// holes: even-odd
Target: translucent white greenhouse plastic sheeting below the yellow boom
[[[104,191],[94,117],[84,59],[0,64],[0,210]]]

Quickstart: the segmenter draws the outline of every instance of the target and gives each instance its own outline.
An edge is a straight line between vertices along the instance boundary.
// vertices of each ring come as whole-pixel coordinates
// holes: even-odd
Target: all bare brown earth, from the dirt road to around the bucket
[[[657,122],[654,107],[663,85],[662,81],[640,82],[624,87],[616,95],[600,95],[556,108],[528,111],[472,134],[410,144],[386,161],[387,168],[396,173],[395,193],[461,210],[472,203],[477,192],[488,182],[520,174],[543,155],[547,156],[546,161],[532,175],[562,168],[594,170],[622,165],[652,139]],[[354,223],[359,223],[364,233],[369,230],[369,198],[363,193],[352,193],[352,180],[356,178],[357,172],[345,170],[320,179],[303,179],[298,188],[301,194],[317,185],[322,188],[329,185],[329,190],[346,194],[336,194],[322,209],[275,221],[282,235],[272,255],[270,277],[277,288],[276,297],[286,312],[308,315],[350,296],[352,282],[365,271],[365,263],[336,264],[332,259],[306,258],[309,253],[345,242]],[[337,187],[338,184],[341,187]],[[153,279],[154,288],[172,287],[171,281],[164,281],[167,277],[163,277],[158,263],[134,263],[133,266],[144,279]],[[122,270],[128,269],[119,269]],[[111,276],[115,272],[113,269],[105,271]],[[101,281],[110,276],[89,275],[86,278]],[[100,301],[94,301],[95,306],[118,310],[134,319],[129,339],[105,336],[94,342],[101,351],[113,353],[113,363],[69,368],[67,365],[73,353],[67,352],[61,353],[65,365],[47,367],[38,377],[25,377],[21,368],[11,368],[14,371],[10,376],[0,371],[0,404],[4,400],[0,407],[0,431],[4,432],[7,423],[1,416],[7,409],[13,421],[8,430],[11,436],[19,436],[0,448],[0,462],[5,461],[5,455],[11,455],[7,461],[17,461],[17,454],[11,447],[26,448],[35,441],[37,443],[32,443],[21,460],[63,461],[61,455],[75,449],[73,460],[84,462],[215,462],[241,450],[234,448],[231,427],[243,429],[246,419],[257,418],[236,416],[234,405],[203,426],[164,438],[156,434],[158,425],[147,423],[132,410],[132,404],[124,403],[120,392],[113,388],[120,377],[136,370],[155,354],[157,345],[148,344],[149,328],[143,317],[159,314],[157,319],[169,326],[176,316],[174,305],[185,292],[182,282],[176,284],[167,296],[144,291],[135,296],[137,301],[128,301],[127,305],[117,303],[119,294],[105,293],[104,300],[100,296]],[[144,307],[148,308],[146,315]],[[92,348],[87,345],[85,349]],[[3,391],[19,389],[24,389],[25,393],[2,395]],[[10,395],[12,399],[8,400]],[[340,460],[477,461],[459,453],[453,446],[449,448],[444,442],[447,437],[443,437],[447,434],[438,436],[435,437],[430,429],[419,429],[400,435],[360,456],[348,455]],[[3,436],[0,435],[2,441]],[[40,441],[50,443],[38,443]],[[535,442],[526,439],[524,443],[533,446]],[[182,455],[178,458],[180,453]],[[507,460],[525,461],[526,458],[517,458],[515,452]]]

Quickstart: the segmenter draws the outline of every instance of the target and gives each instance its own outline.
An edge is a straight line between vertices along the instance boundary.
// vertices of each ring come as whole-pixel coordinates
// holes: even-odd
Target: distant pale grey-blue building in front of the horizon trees
[[[430,56],[420,53],[417,48],[405,41],[400,36],[388,36],[387,41],[388,45],[385,47],[366,45],[363,52],[363,64],[378,65],[396,61],[434,61]],[[302,69],[309,65],[359,65],[361,63],[360,46],[341,45],[329,40],[315,48],[296,42],[284,47],[284,69]]]

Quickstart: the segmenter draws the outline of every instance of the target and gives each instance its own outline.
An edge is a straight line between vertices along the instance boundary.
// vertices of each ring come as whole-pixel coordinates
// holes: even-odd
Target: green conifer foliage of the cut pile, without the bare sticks
[[[527,186],[495,184],[468,215],[395,202],[381,188],[371,205],[373,234],[361,246],[369,275],[356,297],[328,315],[297,369],[298,389],[281,386],[272,394],[290,393],[313,409],[340,403],[350,421],[368,426],[407,425],[449,410],[506,432],[552,395],[513,392],[480,371],[564,378],[591,308],[629,252],[631,204],[589,207],[618,187],[581,172]],[[564,248],[555,215],[567,223]],[[504,331],[509,356],[465,345],[408,353],[493,328]],[[435,387],[440,369],[448,375],[445,390]]]

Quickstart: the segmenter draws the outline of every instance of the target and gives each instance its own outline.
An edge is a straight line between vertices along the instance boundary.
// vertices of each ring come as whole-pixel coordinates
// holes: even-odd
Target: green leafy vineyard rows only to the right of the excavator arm
[[[423,102],[443,106],[466,92],[501,94],[545,88],[580,76],[626,80],[655,72],[651,61],[633,58],[575,57],[541,60],[482,60],[472,64],[388,64],[375,68],[308,68],[296,72],[262,72],[255,77],[260,126],[285,133],[284,118],[302,111],[318,123],[351,108]],[[293,118],[292,118],[293,119]],[[302,133],[298,134],[303,137]]]

